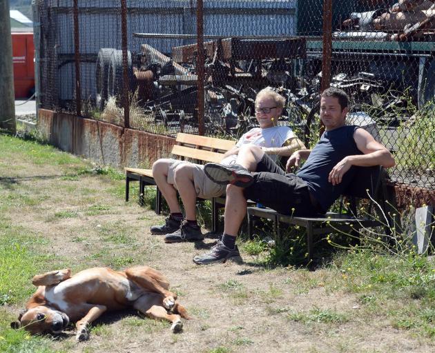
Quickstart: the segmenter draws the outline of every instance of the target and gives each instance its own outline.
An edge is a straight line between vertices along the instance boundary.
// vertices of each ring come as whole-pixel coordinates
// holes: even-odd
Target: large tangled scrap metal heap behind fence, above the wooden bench
[[[255,95],[266,86],[276,87],[289,101],[313,94],[302,89],[293,77],[293,59],[305,59],[305,47],[305,39],[301,38],[228,38],[204,43],[206,130],[231,133],[241,125],[246,128],[251,123],[249,117],[255,115]],[[119,97],[122,91],[122,52],[108,51],[101,49],[97,61],[97,106],[101,110],[108,97]],[[171,57],[147,44],[138,54],[128,52],[131,92],[137,92],[139,105],[154,117],[155,123],[179,131],[197,127],[196,57],[196,45],[175,47]],[[115,77],[110,79],[111,75]],[[300,97],[291,93],[295,90]],[[302,103],[299,105],[304,108]],[[291,110],[286,114],[293,114],[300,123],[301,114]]]

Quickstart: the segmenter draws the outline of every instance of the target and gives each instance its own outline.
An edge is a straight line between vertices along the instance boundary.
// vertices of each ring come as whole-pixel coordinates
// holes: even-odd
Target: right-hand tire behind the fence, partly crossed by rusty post
[[[128,50],[128,88],[133,86],[133,65],[131,52]],[[124,68],[122,66],[122,50],[114,50],[110,58],[108,70],[108,96],[115,96],[117,102],[121,102],[122,92],[124,91]]]

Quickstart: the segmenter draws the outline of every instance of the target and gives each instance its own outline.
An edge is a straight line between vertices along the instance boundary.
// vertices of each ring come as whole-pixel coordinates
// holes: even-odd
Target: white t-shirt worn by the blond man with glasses
[[[235,147],[252,143],[253,145],[258,145],[260,147],[278,148],[282,147],[285,141],[293,137],[295,137],[295,134],[293,134],[293,131],[288,126],[272,126],[267,129],[253,128],[240,137],[239,141],[235,144]],[[271,157],[273,161],[278,159],[278,155],[276,154],[269,154],[269,157]],[[220,163],[230,164],[233,163],[236,158],[237,154],[232,154],[223,159]]]

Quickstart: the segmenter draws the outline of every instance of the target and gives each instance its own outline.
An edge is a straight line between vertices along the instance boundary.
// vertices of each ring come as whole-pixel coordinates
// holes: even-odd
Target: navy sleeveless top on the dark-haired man
[[[354,177],[355,168],[352,166],[345,173],[340,184],[332,185],[328,181],[329,172],[339,161],[347,156],[363,154],[356,147],[354,140],[354,132],[358,128],[356,125],[349,125],[325,131],[296,174],[307,183],[309,192],[324,211],[327,211],[338,199]]]

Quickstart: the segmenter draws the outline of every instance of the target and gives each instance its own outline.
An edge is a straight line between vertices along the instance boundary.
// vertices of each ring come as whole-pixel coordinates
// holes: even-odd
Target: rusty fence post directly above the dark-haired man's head
[[[323,0],[323,40],[322,40],[322,83],[320,92],[331,83],[332,55],[332,0]]]

